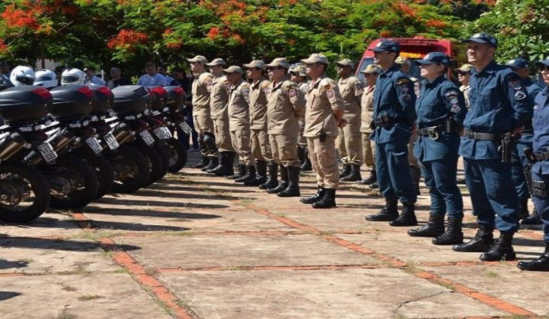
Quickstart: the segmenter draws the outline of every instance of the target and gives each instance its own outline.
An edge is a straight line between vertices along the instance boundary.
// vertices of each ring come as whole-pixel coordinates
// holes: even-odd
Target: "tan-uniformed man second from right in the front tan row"
[[[298,86],[289,80],[290,64],[276,58],[267,64],[272,79],[268,99],[268,134],[273,159],[280,166],[281,182],[269,193],[280,197],[300,196],[298,158],[299,118],[305,115],[305,98]]]

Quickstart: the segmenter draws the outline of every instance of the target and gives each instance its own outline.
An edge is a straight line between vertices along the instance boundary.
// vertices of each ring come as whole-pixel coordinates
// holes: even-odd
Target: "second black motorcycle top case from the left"
[[[80,84],[60,86],[49,92],[53,95],[50,114],[57,121],[74,121],[87,117],[95,100],[92,89]]]

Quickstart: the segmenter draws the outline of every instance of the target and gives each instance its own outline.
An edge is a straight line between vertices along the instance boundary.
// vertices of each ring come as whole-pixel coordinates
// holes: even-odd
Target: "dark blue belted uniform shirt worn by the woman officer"
[[[444,158],[457,158],[460,147],[460,135],[444,133],[447,118],[463,124],[467,113],[463,94],[444,75],[432,82],[423,81],[421,93],[416,101],[418,129],[442,126],[438,129],[439,138],[433,140],[428,135],[419,136],[414,146],[414,156],[419,161],[435,161]]]

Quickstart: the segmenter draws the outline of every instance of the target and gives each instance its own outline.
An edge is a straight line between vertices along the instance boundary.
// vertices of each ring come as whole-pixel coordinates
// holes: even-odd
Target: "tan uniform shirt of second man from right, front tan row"
[[[305,98],[289,79],[272,83],[268,99],[268,134],[298,136],[298,118],[305,114]]]

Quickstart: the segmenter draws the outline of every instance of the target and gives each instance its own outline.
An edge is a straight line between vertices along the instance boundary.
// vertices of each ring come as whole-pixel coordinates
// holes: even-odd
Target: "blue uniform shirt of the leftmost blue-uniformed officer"
[[[416,94],[411,79],[396,64],[380,73],[374,91],[373,119],[377,121],[386,115],[396,123],[390,128],[377,127],[371,140],[388,143],[399,139],[410,139],[411,129],[416,121]]]

